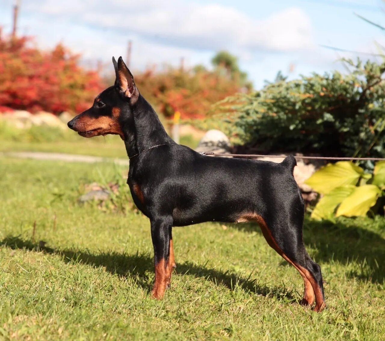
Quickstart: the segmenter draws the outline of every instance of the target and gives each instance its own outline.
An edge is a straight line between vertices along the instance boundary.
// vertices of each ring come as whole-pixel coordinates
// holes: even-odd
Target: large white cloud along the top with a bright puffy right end
[[[293,51],[313,45],[310,20],[298,8],[257,21],[232,7],[175,0],[37,0],[26,6],[30,12],[65,15],[77,23],[179,48]]]

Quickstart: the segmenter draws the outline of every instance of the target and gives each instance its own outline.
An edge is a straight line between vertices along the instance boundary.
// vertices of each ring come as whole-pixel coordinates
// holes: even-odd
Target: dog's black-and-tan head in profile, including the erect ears
[[[117,134],[124,139],[122,119],[132,114],[132,107],[139,98],[139,91],[122,57],[119,57],[117,62],[112,57],[112,62],[116,75],[114,86],[102,91],[96,96],[91,108],[68,122],[68,126],[80,136]]]

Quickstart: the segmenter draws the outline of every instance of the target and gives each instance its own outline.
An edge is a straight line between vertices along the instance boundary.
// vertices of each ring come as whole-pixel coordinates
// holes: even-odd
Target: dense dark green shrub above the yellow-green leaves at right
[[[344,62],[349,74],[281,80],[222,101],[227,133],[260,152],[384,157],[385,63]]]

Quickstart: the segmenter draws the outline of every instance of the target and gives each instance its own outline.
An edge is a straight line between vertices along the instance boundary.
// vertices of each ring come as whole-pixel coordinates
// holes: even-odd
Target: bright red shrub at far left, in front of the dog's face
[[[30,43],[29,37],[0,35],[0,108],[51,113],[89,108],[103,88],[99,75],[81,68],[79,55],[61,44],[43,52]]]

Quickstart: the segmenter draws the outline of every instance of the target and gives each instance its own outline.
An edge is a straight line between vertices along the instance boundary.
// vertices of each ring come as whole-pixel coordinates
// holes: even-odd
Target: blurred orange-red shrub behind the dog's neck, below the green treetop
[[[203,118],[210,106],[239,92],[240,80],[216,71],[181,71],[169,68],[134,75],[141,94],[166,117],[176,111],[181,118]]]

